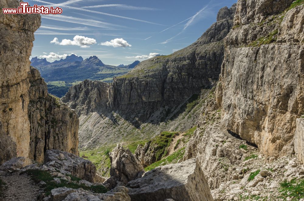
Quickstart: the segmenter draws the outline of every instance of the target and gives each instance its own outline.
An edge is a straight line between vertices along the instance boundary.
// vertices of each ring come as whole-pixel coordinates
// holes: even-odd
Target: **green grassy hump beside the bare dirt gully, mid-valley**
[[[170,146],[172,139],[178,135],[178,132],[161,132],[161,135],[156,136],[152,141],[150,146],[154,146],[156,153],[156,161],[161,160],[161,158],[167,155],[167,147]]]

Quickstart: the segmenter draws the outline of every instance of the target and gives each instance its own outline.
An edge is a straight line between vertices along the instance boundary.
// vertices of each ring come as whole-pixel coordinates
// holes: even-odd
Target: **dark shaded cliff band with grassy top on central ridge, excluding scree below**
[[[114,78],[109,106],[145,119],[159,107],[176,105],[201,88],[211,88],[218,80],[224,51],[221,40],[233,26],[234,8],[192,45],[143,61],[126,76]]]

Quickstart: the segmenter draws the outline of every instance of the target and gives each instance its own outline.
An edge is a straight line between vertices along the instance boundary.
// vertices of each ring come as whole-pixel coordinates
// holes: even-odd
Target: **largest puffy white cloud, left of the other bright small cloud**
[[[57,45],[76,45],[82,48],[88,48],[88,45],[96,44],[96,40],[93,38],[88,38],[85,36],[76,35],[73,40],[70,39],[63,39],[61,42],[58,41],[58,38],[54,38],[50,43],[55,43]]]

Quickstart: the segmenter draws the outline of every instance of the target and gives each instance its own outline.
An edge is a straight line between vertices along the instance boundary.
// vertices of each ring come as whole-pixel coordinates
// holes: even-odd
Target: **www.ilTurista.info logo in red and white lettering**
[[[53,6],[45,7],[43,5],[29,6],[28,2],[20,2],[18,8],[3,8],[3,14],[42,14],[42,15],[57,15],[62,13],[62,9],[59,7],[54,8]]]

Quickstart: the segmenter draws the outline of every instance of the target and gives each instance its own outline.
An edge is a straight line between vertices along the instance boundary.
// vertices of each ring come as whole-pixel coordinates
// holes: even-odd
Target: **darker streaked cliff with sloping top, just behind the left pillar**
[[[44,153],[58,149],[78,155],[78,117],[60,100],[47,93],[47,84],[31,67],[28,115],[30,121],[29,158],[43,162]]]

